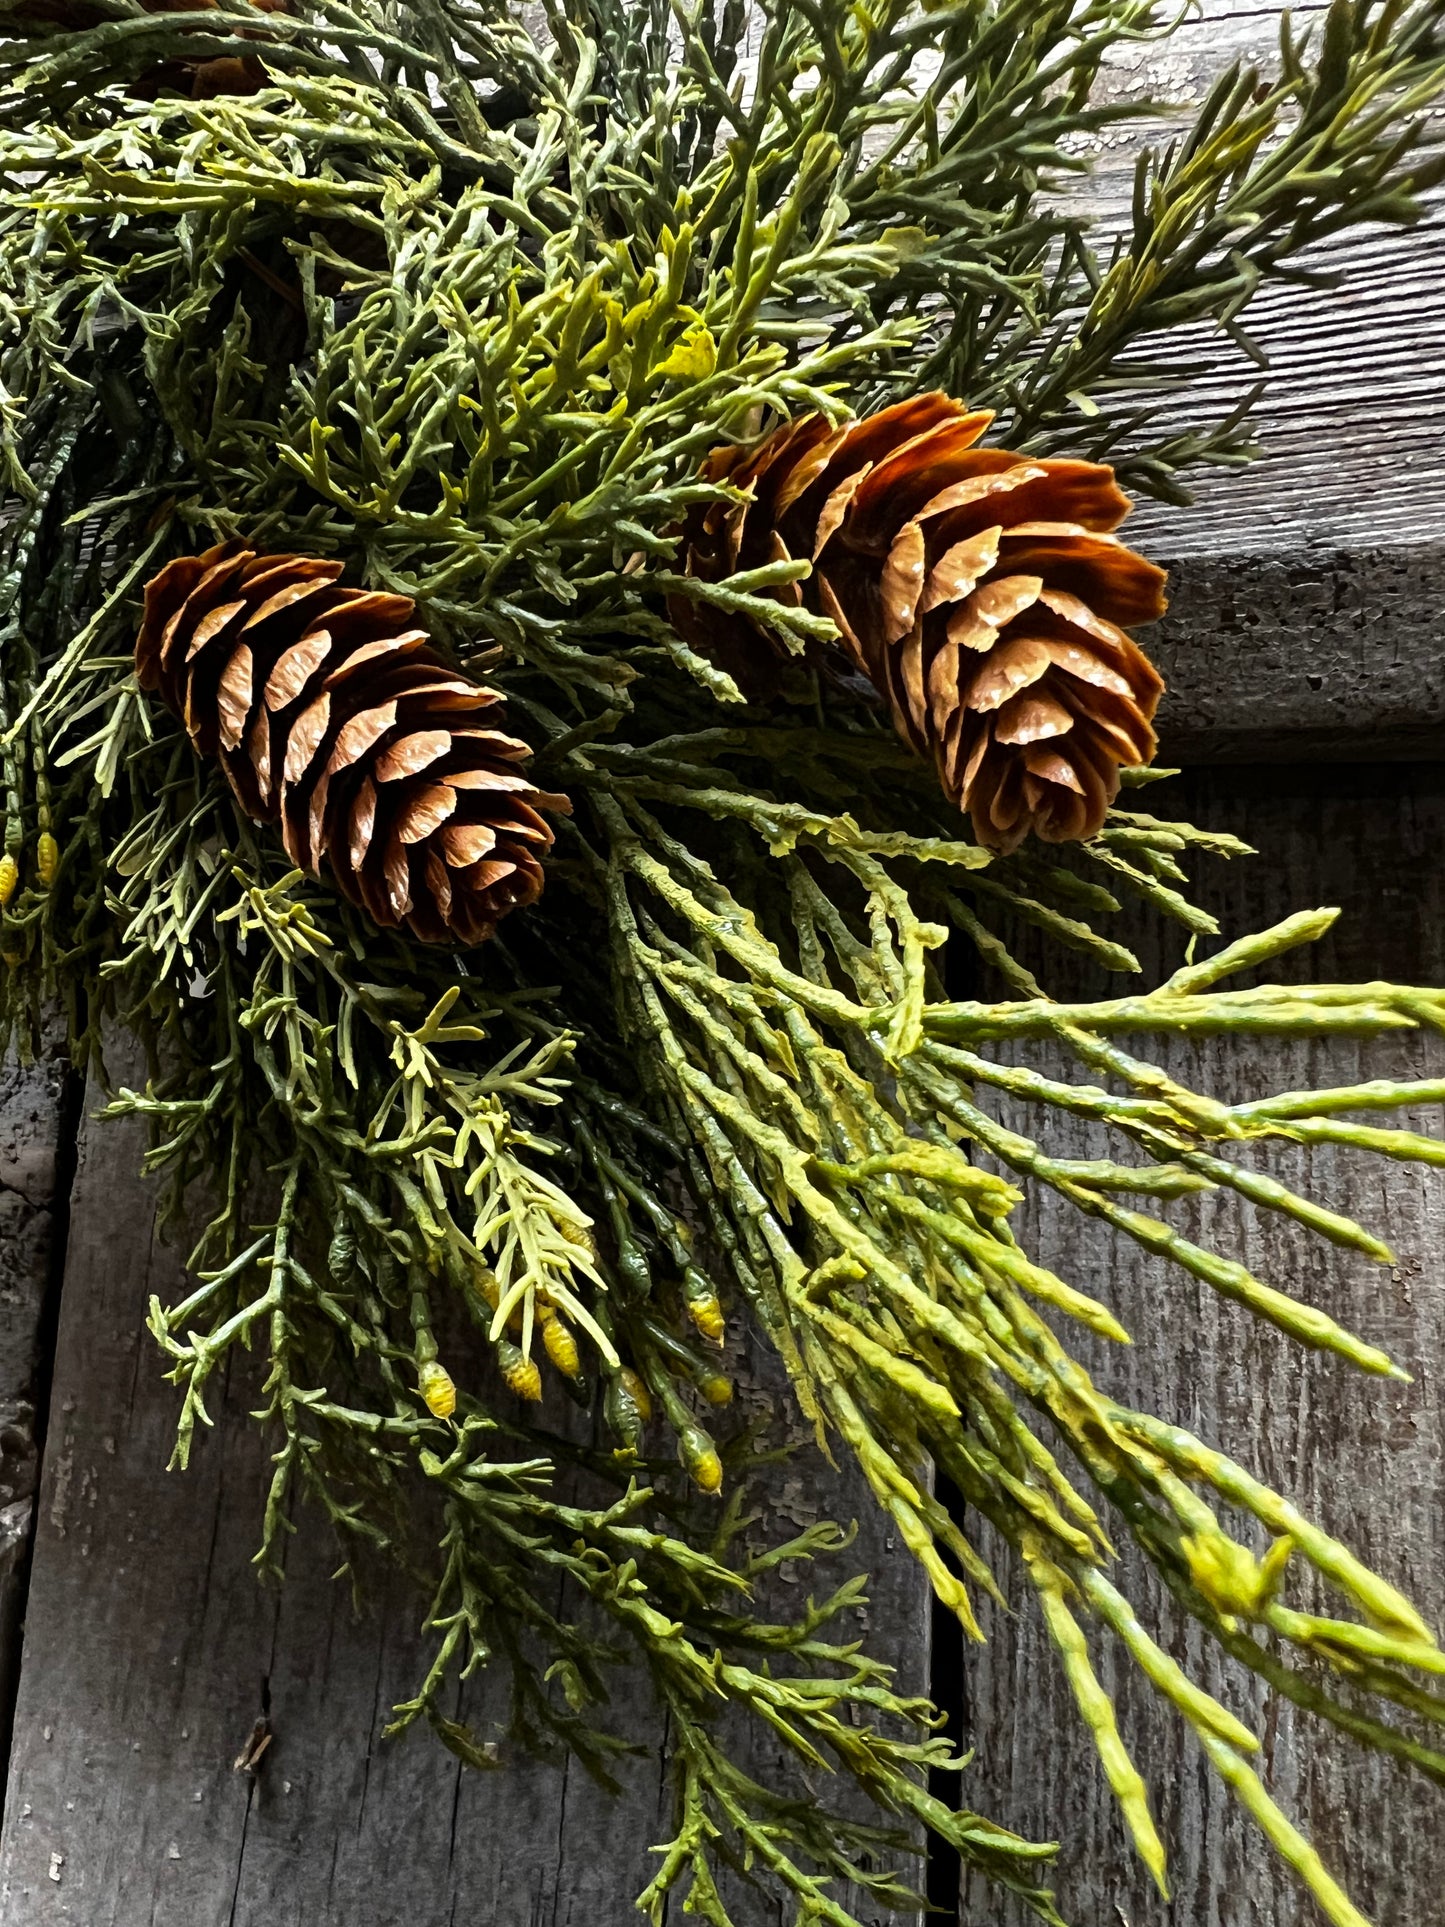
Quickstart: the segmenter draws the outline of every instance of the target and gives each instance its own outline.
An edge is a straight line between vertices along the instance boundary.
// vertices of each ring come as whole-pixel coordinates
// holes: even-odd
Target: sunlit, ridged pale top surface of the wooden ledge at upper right
[[[1193,118],[1212,81],[1235,60],[1277,71],[1283,6],[1200,0],[1173,33],[1110,54],[1100,94],[1158,102],[1075,145],[1092,173],[1079,195],[1104,231],[1127,222],[1135,158],[1166,145]],[[1289,10],[1316,33],[1324,6]],[[1198,470],[1191,509],[1146,503],[1135,540],[1164,557],[1314,553],[1433,541],[1445,536],[1439,489],[1445,441],[1445,220],[1412,229],[1353,229],[1312,256],[1341,274],[1335,291],[1268,285],[1243,320],[1266,353],[1262,372],[1212,328],[1177,330],[1150,343],[1150,358],[1189,374],[1173,410],[1198,420],[1227,414],[1266,380],[1258,410],[1264,455],[1245,470]],[[1158,355],[1154,349],[1158,347]],[[1200,368],[1216,368],[1202,374]]]

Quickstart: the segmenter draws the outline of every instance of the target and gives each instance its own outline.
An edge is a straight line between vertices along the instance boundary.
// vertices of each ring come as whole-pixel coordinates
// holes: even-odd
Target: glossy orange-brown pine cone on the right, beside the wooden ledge
[[[1129,513],[1112,468],[977,447],[990,420],[934,393],[715,449],[705,480],[748,499],[699,503],[682,540],[701,582],[811,561],[775,599],[832,619],[979,840],[1013,850],[1092,836],[1119,765],[1152,757],[1164,682],[1123,624],[1164,613],[1164,570],[1110,534]],[[782,653],[705,601],[669,613],[744,686]]]

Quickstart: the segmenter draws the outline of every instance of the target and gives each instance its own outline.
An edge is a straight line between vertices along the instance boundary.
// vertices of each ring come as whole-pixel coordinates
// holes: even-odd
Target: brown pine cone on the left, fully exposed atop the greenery
[[[499,698],[407,628],[408,595],[337,588],[341,563],[239,541],[168,563],[135,644],[241,807],[279,819],[293,863],[322,858],[376,923],[480,944],[541,892],[570,809],[516,771],[530,752],[484,717]]]

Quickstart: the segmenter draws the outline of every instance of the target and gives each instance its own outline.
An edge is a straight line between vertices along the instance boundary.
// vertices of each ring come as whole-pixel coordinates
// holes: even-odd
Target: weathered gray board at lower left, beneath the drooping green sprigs
[[[148,1295],[179,1287],[135,1175],[137,1133],[85,1125],[56,1355],[23,1680],[0,1835],[4,1927],[591,1927],[624,1921],[667,1838],[659,1730],[620,1707],[649,1752],[630,1796],[584,1773],[507,1759],[464,1773],[428,1734],[383,1742],[424,1669],[420,1601],[383,1586],[356,1617],[328,1528],[301,1515],[287,1578],[250,1569],[268,1476],[231,1384],[189,1474],[166,1474],[173,1393],[143,1330]],[[755,1384],[767,1386],[765,1378]],[[776,1384],[746,1397],[775,1399]],[[855,1486],[809,1465],[775,1478],[796,1528]],[[875,1572],[854,1634],[927,1684],[927,1611],[882,1524],[830,1574]],[[821,1584],[823,1580],[819,1580]],[[796,1576],[801,1592],[803,1574]],[[252,1721],[276,1730],[262,1771],[233,1771]],[[468,1705],[501,1732],[486,1694]],[[503,1755],[507,1748],[503,1744]],[[769,1767],[771,1748],[755,1755]],[[751,1927],[782,1919],[744,1900]],[[865,1912],[865,1919],[873,1915]]]

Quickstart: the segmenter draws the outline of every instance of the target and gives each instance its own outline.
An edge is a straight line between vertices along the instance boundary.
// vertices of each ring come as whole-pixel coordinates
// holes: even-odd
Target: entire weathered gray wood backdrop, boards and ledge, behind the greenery
[[[1164,54],[1127,50],[1114,85],[1183,110],[1235,52],[1268,58],[1275,29],[1274,6],[1210,0]],[[1119,133],[1098,154],[1104,212],[1123,198],[1141,137]],[[1275,364],[1270,457],[1208,478],[1193,513],[1148,509],[1133,524],[1135,540],[1177,559],[1158,646],[1171,682],[1164,755],[1191,767],[1158,802],[1268,852],[1210,875],[1204,894],[1225,935],[1343,904],[1314,969],[1439,983],[1445,224],[1335,252],[1349,266],[1343,293],[1289,291],[1250,312]],[[1229,391],[1225,380],[1210,387],[1196,399]],[[1175,1060],[1202,1087],[1233,1091],[1441,1073],[1424,1039],[1368,1052],[1179,1044]],[[94,1098],[52,1064],[0,1077],[0,1927],[626,1921],[665,1836],[657,1746],[638,1761],[632,1800],[615,1806],[580,1773],[509,1761],[462,1775],[422,1736],[383,1742],[391,1703],[418,1676],[416,1603],[381,1592],[358,1619],[328,1580],[322,1530],[295,1538],[281,1590],[256,1584],[268,1466],[245,1420],[254,1386],[227,1387],[193,1470],[166,1476],[173,1403],[143,1314],[152,1291],[175,1287],[177,1260],[152,1235],[135,1135],[89,1122]],[[1439,1118],[1424,1123],[1441,1129]],[[1237,1235],[1262,1276],[1387,1343],[1412,1386],[1302,1360],[1092,1226],[1042,1208],[1031,1231],[1044,1262],[1116,1303],[1135,1332],[1129,1353],[1098,1360],[1110,1386],[1222,1439],[1439,1611],[1445,1174],[1333,1152],[1272,1168],[1362,1214],[1393,1239],[1399,1266],[1310,1247],[1216,1199],[1200,1214]],[[753,1397],[775,1395],[761,1378]],[[923,1588],[855,1486],[809,1465],[773,1491],[778,1517],[798,1522],[854,1507],[865,1518],[854,1559],[875,1576],[859,1630],[925,1684]],[[1164,1624],[1195,1650],[1168,1609]],[[1037,1623],[994,1615],[988,1630],[961,1669],[948,1640],[934,1655],[936,1684],[979,1750],[961,1796],[1025,1831],[1064,1833],[1060,1896],[1075,1927],[1314,1927],[1193,1744],[1121,1680],[1125,1736],[1160,1788],[1173,1852],[1177,1898],[1158,1902]],[[1220,1690],[1256,1711],[1239,1680],[1222,1676]],[[472,1711],[486,1725],[486,1703]],[[630,1711],[645,1736],[647,1709]],[[260,1773],[237,1773],[262,1715],[274,1744]],[[1381,1927],[1445,1927],[1439,1796],[1300,1730],[1289,1707],[1262,1719],[1272,1790],[1366,1912]],[[736,1917],[786,1919],[755,1898]],[[959,1917],[1019,1921],[983,1894],[963,1896]]]

